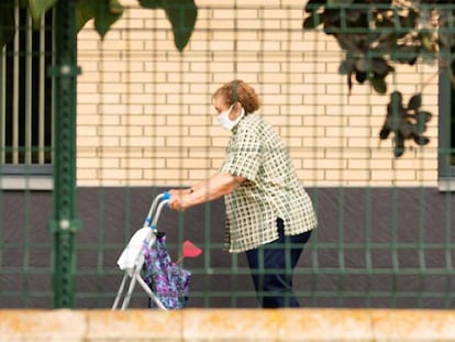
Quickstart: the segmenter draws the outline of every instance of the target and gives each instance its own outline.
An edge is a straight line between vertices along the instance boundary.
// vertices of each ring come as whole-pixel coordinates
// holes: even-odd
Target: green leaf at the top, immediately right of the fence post
[[[80,30],[91,19],[95,29],[104,37],[112,24],[120,19],[123,7],[118,0],[79,0],[77,3],[77,29]]]

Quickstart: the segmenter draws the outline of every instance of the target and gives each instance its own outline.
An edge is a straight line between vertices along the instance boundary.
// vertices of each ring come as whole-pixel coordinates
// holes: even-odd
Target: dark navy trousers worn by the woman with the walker
[[[262,308],[299,307],[292,291],[292,275],[311,231],[285,236],[285,224],[279,218],[277,230],[278,240],[246,251],[257,300]]]

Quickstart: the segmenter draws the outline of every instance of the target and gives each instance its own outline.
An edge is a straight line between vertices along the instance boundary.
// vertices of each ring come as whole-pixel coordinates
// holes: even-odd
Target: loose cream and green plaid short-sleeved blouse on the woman
[[[244,117],[233,129],[221,172],[245,178],[224,197],[225,244],[231,253],[277,240],[277,218],[284,220],[286,235],[317,227],[311,199],[284,142],[259,114]]]

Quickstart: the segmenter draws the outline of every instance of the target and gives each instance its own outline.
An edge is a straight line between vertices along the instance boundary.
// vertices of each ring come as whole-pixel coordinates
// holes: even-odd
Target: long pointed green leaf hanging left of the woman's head
[[[164,9],[174,32],[174,43],[184,51],[195,30],[198,9],[193,0],[138,0],[143,8]]]

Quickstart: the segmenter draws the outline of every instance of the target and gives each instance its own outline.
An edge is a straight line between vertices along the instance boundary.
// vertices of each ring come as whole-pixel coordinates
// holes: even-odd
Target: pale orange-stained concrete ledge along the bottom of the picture
[[[15,341],[455,341],[455,310],[0,310]]]

